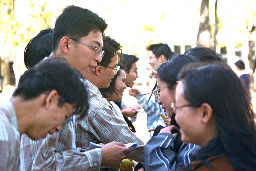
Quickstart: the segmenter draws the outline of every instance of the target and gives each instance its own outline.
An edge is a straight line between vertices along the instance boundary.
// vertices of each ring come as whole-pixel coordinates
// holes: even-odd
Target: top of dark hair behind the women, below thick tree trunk
[[[186,50],[184,54],[193,56],[198,62],[213,62],[223,60],[221,55],[207,47],[194,47]]]

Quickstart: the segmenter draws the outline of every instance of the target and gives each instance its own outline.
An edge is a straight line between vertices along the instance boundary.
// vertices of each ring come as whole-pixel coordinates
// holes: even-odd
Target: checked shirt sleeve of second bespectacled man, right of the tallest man
[[[127,158],[137,162],[144,161],[144,143],[130,131],[125,120],[117,116],[107,105],[91,103],[88,117],[77,122],[76,131],[79,147],[90,141],[95,142],[95,139],[103,144],[112,141],[124,144],[138,143],[141,148],[132,149]]]

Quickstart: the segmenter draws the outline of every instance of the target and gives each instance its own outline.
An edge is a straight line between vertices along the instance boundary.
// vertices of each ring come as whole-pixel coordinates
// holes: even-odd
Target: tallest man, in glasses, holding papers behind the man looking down
[[[65,58],[83,77],[88,78],[102,60],[103,32],[106,27],[105,21],[92,11],[76,6],[66,7],[55,23],[53,52],[50,57]],[[87,81],[83,82],[88,87]],[[77,148],[75,142],[72,120],[63,125],[58,134],[44,139],[38,151],[37,148],[34,149],[33,143],[24,144],[23,161],[32,159],[32,170],[100,170],[102,165],[119,167],[125,154],[130,151],[123,143],[118,142],[106,144],[101,149],[84,151]],[[37,151],[34,152],[35,159],[29,159],[30,154],[26,154],[32,149]],[[30,170],[27,169],[26,163],[24,165],[25,170]]]

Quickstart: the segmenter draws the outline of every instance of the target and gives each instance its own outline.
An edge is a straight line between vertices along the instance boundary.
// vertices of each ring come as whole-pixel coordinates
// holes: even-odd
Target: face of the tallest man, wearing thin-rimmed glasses
[[[102,48],[103,47],[103,38],[100,31],[91,31],[87,36],[81,37],[79,42],[76,42],[72,39],[69,39],[70,49],[68,51],[68,62],[69,64],[78,69],[85,78],[91,75],[96,67],[97,63],[101,62],[102,57],[101,53],[96,54],[95,50],[89,46]]]

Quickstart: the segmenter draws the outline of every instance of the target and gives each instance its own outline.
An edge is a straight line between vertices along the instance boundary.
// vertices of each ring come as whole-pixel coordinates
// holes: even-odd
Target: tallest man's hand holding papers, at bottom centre
[[[102,161],[101,165],[119,168],[126,154],[130,153],[130,149],[126,148],[121,142],[111,142],[101,148]]]

